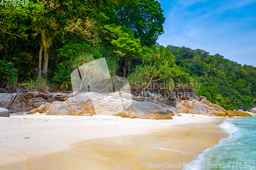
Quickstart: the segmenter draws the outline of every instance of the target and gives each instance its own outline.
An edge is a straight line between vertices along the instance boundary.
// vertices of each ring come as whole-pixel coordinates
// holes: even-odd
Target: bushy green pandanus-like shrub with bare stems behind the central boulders
[[[194,82],[191,77],[183,72],[175,63],[175,57],[163,46],[142,48],[141,65],[137,65],[134,72],[129,75],[130,84],[136,88],[153,86],[161,92],[194,91]],[[184,86],[185,85],[185,86]]]

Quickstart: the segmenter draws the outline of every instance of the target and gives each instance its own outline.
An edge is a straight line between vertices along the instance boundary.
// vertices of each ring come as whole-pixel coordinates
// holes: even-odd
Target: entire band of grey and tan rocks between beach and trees
[[[172,119],[174,115],[180,116],[179,113],[229,117],[251,116],[242,110],[227,111],[207,101],[204,96],[193,93],[183,93],[174,100],[150,91],[145,91],[136,97],[125,92],[109,94],[86,92],[77,93],[77,95],[71,92],[41,93],[37,91],[0,93],[0,108],[3,108],[0,109],[0,116],[9,116],[9,113],[20,111],[30,114],[36,112],[80,116],[101,114],[150,119]]]

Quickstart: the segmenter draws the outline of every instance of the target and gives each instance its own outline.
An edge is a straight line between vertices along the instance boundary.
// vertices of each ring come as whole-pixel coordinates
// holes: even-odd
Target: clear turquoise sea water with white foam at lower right
[[[219,126],[229,137],[183,169],[256,169],[256,116],[228,118]]]

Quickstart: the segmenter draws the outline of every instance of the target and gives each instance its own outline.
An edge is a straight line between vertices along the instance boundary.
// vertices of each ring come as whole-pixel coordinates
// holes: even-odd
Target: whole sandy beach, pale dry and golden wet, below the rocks
[[[90,117],[42,114],[12,115],[0,119],[2,125],[0,125],[2,139],[0,169],[18,169],[17,167],[40,169],[41,166],[48,166],[47,169],[58,169],[60,166],[65,169],[90,169],[89,167],[113,169],[113,165],[115,169],[125,169],[134,166],[136,162],[145,166],[149,162],[164,161],[164,158],[169,157],[170,152],[176,153],[176,162],[188,163],[202,153],[206,149],[205,147],[213,147],[221,138],[228,136],[218,127],[223,122],[223,117],[182,114],[182,116],[173,118],[173,120],[152,120],[100,115]],[[5,125],[3,124],[4,119]],[[33,129],[31,129],[32,127]],[[7,134],[10,137],[8,140],[4,140],[3,138]],[[206,140],[205,136],[207,135],[211,137],[213,135],[214,139]],[[174,136],[177,141],[168,142],[171,139],[174,140]],[[25,139],[24,137],[30,138]],[[181,140],[182,142],[180,142]],[[190,146],[190,149],[184,149],[189,146],[191,141],[194,144]],[[170,144],[175,145],[175,143],[177,146],[180,145],[178,149],[183,149],[182,152],[177,150],[177,146],[176,150],[168,149]],[[200,148],[197,143],[203,144],[204,147]],[[191,149],[191,147],[195,149]],[[184,154],[186,151],[191,152],[189,156],[185,154],[186,159],[177,159],[177,156],[184,157],[180,154]],[[152,152],[154,152],[153,155],[162,155],[163,158],[152,156]],[[119,157],[122,159],[113,157],[113,155],[120,155]],[[134,161],[127,164],[122,160]],[[173,160],[165,161],[175,162]],[[117,165],[118,163],[120,164]],[[141,166],[139,168],[135,166],[133,169],[136,167],[143,169]],[[148,167],[144,169],[148,169]]]

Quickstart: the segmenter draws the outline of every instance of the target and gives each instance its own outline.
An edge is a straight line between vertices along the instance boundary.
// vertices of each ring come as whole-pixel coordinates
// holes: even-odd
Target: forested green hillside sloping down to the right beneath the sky
[[[255,104],[256,68],[241,65],[216,54],[187,47],[167,46],[177,65],[200,84],[198,95],[225,109],[247,110]]]

